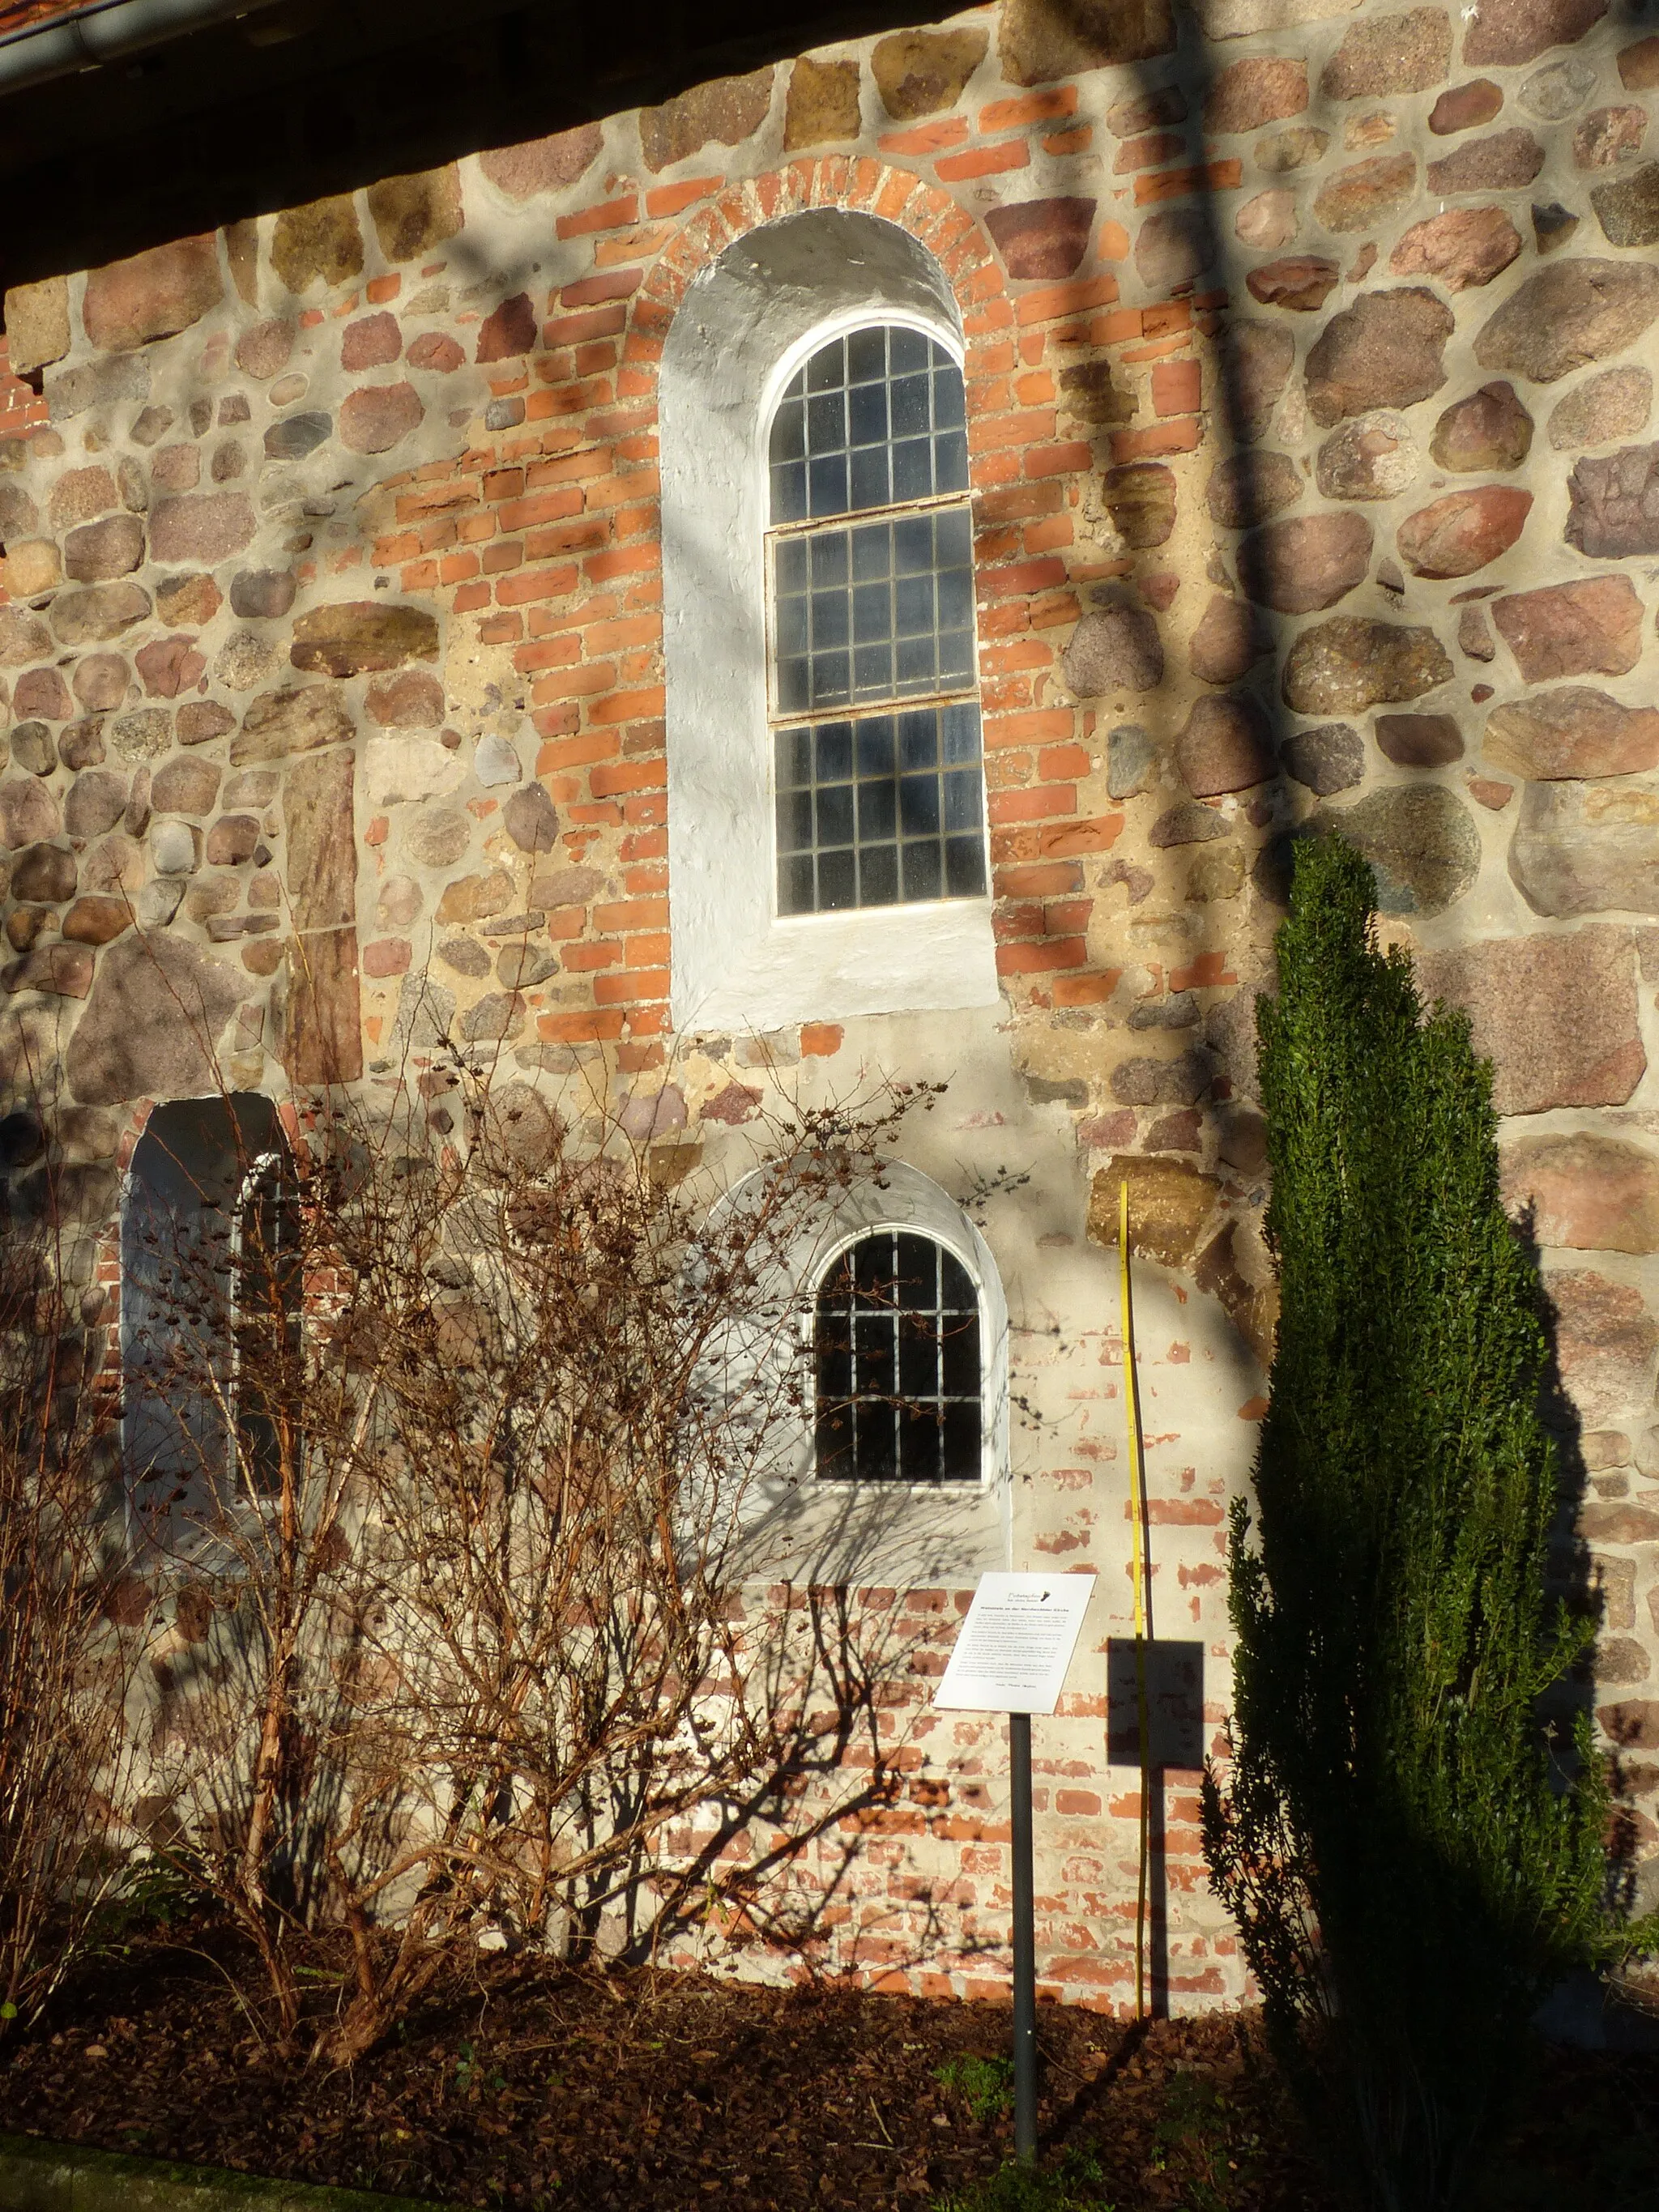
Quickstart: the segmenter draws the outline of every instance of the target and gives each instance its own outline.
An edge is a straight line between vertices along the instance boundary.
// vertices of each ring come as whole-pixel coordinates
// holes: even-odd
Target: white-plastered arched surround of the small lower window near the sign
[[[743,1203],[743,1186],[728,1203]],[[960,1467],[945,1480],[911,1482],[902,1473],[841,1480],[823,1464],[814,1343],[818,1294],[843,1256],[883,1230],[938,1245],[962,1270],[978,1301],[980,1438],[978,1467],[967,1480]],[[838,1197],[832,1217],[803,1239],[787,1265],[810,1385],[799,1433],[774,1453],[745,1502],[750,1571],[814,1584],[960,1588],[989,1568],[1009,1566],[1009,1307],[978,1228],[931,1177],[889,1161]]]

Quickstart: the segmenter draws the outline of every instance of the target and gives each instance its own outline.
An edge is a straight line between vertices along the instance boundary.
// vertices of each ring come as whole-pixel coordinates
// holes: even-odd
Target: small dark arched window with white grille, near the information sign
[[[814,1354],[821,1480],[980,1480],[980,1298],[945,1245],[860,1237],[818,1285]]]

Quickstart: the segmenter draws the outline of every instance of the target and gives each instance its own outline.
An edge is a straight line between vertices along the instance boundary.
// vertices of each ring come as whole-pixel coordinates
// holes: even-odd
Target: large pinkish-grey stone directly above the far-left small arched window
[[[82,1106],[217,1091],[212,1046],[239,1000],[237,973],[173,931],[122,936],[64,1053],[71,1091]]]

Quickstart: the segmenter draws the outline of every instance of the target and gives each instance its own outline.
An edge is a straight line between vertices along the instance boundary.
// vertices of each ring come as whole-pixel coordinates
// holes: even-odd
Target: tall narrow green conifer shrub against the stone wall
[[[1203,1836],[1336,2179],[1438,2212],[1540,1995],[1606,1944],[1608,1796],[1588,1721],[1540,1721],[1593,1619],[1544,1584],[1548,1336],[1491,1068],[1374,905],[1349,847],[1301,845],[1256,1009],[1283,1305]]]

